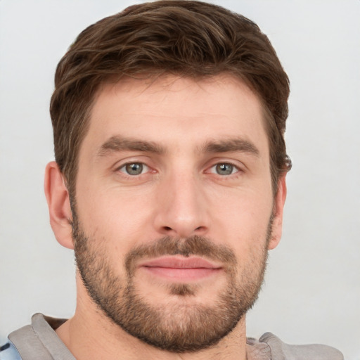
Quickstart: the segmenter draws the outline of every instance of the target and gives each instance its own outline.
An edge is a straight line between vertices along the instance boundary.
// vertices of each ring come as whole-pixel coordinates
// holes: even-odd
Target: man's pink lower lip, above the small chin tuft
[[[212,268],[188,268],[188,269],[179,269],[171,267],[160,267],[160,266],[142,266],[143,269],[148,271],[154,276],[159,276],[162,278],[168,278],[172,281],[196,281],[209,276],[217,274],[220,269]]]

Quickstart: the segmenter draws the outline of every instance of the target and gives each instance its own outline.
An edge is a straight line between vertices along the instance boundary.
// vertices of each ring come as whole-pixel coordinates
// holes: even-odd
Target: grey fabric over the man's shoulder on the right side
[[[265,333],[258,342],[252,340],[255,348],[256,343],[269,350],[271,360],[344,360],[342,353],[334,347],[319,344],[288,345],[272,333]]]

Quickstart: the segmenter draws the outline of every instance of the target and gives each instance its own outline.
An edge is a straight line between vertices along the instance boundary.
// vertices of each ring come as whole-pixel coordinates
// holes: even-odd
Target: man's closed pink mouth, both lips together
[[[222,266],[202,257],[172,256],[146,260],[139,264],[139,268],[151,276],[188,283],[214,276],[221,271]]]

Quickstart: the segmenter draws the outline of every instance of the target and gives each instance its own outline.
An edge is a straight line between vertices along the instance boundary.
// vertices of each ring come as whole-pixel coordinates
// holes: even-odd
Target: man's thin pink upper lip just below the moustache
[[[210,262],[203,257],[157,257],[155,259],[147,259],[139,264],[146,267],[167,267],[172,269],[220,269],[220,264]]]

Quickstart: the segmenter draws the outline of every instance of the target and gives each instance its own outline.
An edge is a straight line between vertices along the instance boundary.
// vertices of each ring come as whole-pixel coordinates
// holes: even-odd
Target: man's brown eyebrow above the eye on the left
[[[105,156],[109,153],[116,153],[118,151],[142,151],[146,153],[163,154],[165,148],[153,143],[152,141],[142,141],[135,139],[122,138],[121,136],[112,136],[105,141],[98,150],[98,156]]]

